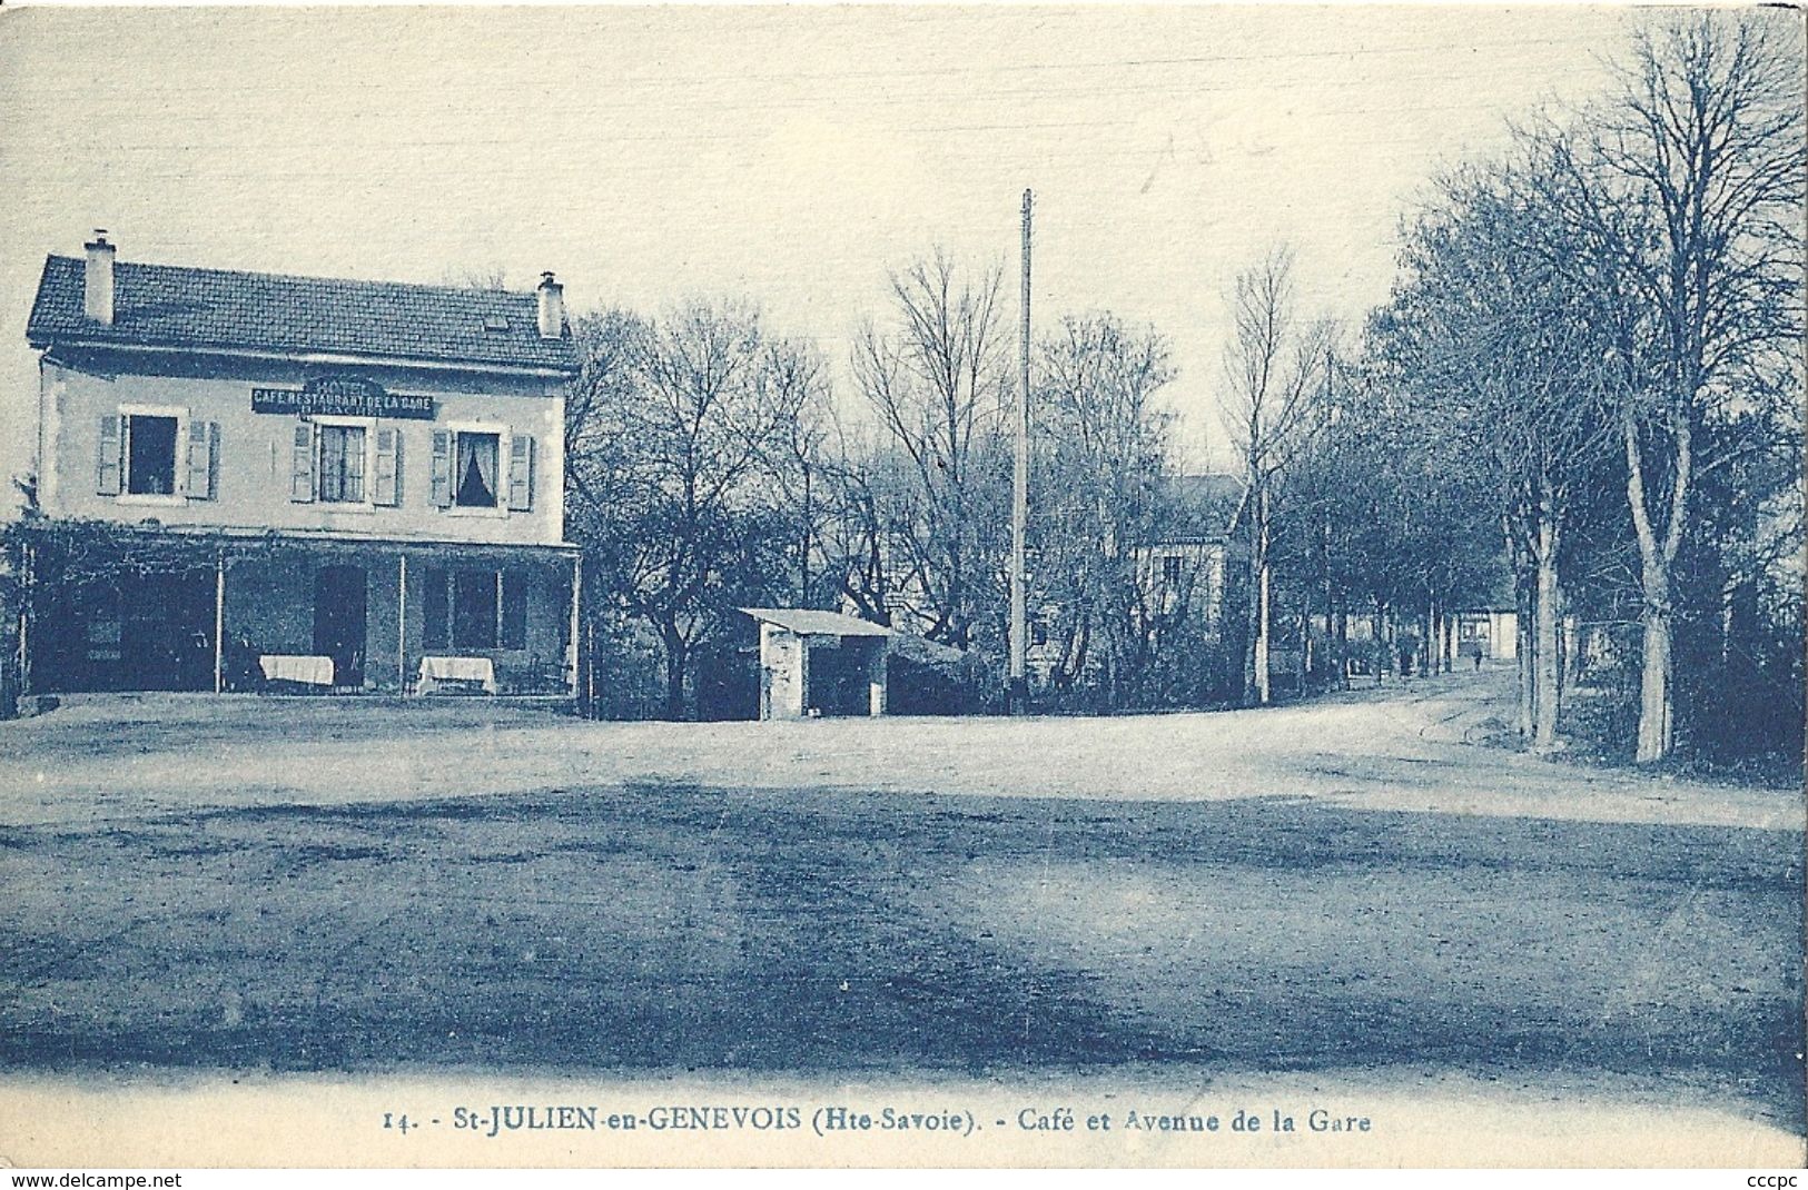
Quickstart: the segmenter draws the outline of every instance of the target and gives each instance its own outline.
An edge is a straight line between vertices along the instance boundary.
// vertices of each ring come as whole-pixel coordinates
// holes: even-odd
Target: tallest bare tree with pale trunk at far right
[[[1788,391],[1768,374],[1801,349],[1801,49],[1784,11],[1658,18],[1568,157],[1569,217],[1636,298],[1615,360],[1643,595],[1640,763],[1674,747],[1676,559],[1696,485],[1728,463],[1703,456],[1707,430]]]

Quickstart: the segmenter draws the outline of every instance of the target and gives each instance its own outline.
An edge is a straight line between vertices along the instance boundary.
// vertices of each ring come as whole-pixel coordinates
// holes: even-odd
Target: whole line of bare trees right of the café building
[[[1242,485],[1217,526],[1244,613],[1220,642],[1240,655],[1228,700],[1273,700],[1276,637],[1295,687],[1342,684],[1363,649],[1380,671],[1383,638],[1448,666],[1454,613],[1510,590],[1526,743],[1558,747],[1582,655],[1618,649],[1638,673],[1633,754],[1654,761],[1676,747],[1678,633],[1690,666],[1716,619],[1725,664],[1775,660],[1799,608],[1770,571],[1801,543],[1801,76],[1779,29],[1647,22],[1611,94],[1434,181],[1403,222],[1392,297],[1354,336],[1304,311],[1285,244],[1238,273],[1220,376]],[[839,400],[828,362],[758,309],[580,320],[573,534],[617,628],[658,640],[662,713],[685,713],[696,653],[736,602],[848,608],[1002,658],[1002,284],[996,264],[942,251],[890,273]],[[1155,705],[1163,600],[1139,546],[1197,515],[1173,499],[1166,340],[1069,315],[1032,365],[1050,696]],[[1370,640],[1352,647],[1363,617]],[[1618,631],[1634,620],[1636,642]]]

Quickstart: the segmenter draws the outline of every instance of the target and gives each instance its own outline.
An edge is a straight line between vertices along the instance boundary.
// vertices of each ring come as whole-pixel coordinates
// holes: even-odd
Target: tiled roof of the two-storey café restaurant
[[[571,331],[541,338],[539,298],[504,289],[114,264],[114,322],[81,309],[85,260],[49,257],[25,335],[217,351],[295,351],[577,371]]]

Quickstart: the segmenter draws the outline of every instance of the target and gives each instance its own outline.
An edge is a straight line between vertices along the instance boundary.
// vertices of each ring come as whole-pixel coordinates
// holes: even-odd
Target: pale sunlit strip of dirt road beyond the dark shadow
[[[1801,790],[1587,770],[1474,740],[1511,671],[1264,711],[1117,718],[586,723],[468,700],[143,694],[0,723],[0,825],[195,808],[535,794],[633,781],[725,789],[1222,801],[1803,828]]]

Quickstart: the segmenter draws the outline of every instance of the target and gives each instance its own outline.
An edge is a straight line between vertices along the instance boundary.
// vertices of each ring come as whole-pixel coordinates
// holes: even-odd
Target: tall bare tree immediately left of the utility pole
[[[891,584],[924,635],[967,647],[1002,559],[1000,497],[1009,336],[996,268],[964,275],[937,253],[891,275],[893,324],[866,327],[853,374],[908,490],[888,517]]]

